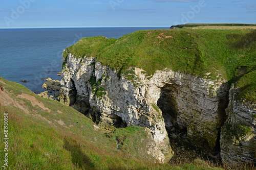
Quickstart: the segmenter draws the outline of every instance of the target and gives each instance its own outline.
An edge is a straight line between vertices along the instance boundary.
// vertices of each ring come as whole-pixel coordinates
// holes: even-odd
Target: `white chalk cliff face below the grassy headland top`
[[[139,68],[133,74],[102,66],[95,58],[62,59],[60,102],[86,114],[102,128],[146,127],[156,143],[148,153],[159,161],[173,156],[166,128],[185,130],[195,145],[211,150],[218,145],[225,121],[228,86],[223,82],[156,71],[147,77]],[[132,79],[129,79],[129,76]]]

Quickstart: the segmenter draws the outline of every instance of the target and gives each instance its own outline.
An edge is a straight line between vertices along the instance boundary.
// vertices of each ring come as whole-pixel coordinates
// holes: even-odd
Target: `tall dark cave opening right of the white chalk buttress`
[[[208,148],[204,148],[203,145],[197,143],[191,143],[187,138],[187,127],[178,124],[178,98],[178,86],[176,84],[165,84],[161,88],[160,98],[157,101],[157,106],[162,111],[170,145],[175,152],[175,156],[172,160],[193,161],[197,157],[200,157],[205,160],[209,158],[210,160],[219,162],[218,155],[212,155]],[[216,149],[218,150],[218,148]],[[216,153],[219,153],[218,151]]]

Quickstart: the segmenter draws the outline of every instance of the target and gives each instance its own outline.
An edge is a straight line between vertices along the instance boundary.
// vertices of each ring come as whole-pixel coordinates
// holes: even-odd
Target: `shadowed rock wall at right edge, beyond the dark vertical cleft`
[[[230,163],[256,164],[256,105],[237,99],[240,90],[234,84],[229,93],[228,118],[221,131],[221,157]]]

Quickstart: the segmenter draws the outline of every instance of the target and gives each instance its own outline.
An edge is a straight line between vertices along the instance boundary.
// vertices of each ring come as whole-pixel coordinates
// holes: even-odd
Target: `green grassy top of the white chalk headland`
[[[242,76],[241,67],[246,68],[244,74],[255,70],[256,30],[142,30],[119,39],[82,38],[68,47],[63,56],[68,53],[96,57],[103,65],[121,72],[136,66],[150,76],[156,70],[169,68],[234,83]]]

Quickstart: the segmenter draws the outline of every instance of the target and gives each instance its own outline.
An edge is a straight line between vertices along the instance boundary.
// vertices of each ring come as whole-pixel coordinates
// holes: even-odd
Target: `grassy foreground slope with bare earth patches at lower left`
[[[72,107],[40,98],[25,86],[1,77],[0,84],[5,88],[0,97],[10,102],[7,105],[0,101],[2,158],[4,113],[8,113],[6,169],[219,169],[201,160],[173,166],[154,163],[146,154],[152,141],[144,128],[127,127],[107,134]],[[29,98],[19,97],[24,94],[32,96],[40,107],[33,106]],[[0,165],[4,165],[3,160]]]

